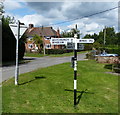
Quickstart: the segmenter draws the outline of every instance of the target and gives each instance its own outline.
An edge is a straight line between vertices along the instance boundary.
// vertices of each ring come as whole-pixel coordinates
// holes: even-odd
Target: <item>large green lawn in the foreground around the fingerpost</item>
[[[4,113],[118,113],[118,76],[105,64],[78,62],[78,105],[73,107],[73,68],[64,63],[21,74],[3,83]]]

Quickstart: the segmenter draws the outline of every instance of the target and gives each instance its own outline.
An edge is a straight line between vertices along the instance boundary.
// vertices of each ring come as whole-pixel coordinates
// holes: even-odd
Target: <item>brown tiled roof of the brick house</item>
[[[28,37],[39,35],[39,36],[57,36],[57,32],[52,27],[33,27],[27,29],[25,33]]]

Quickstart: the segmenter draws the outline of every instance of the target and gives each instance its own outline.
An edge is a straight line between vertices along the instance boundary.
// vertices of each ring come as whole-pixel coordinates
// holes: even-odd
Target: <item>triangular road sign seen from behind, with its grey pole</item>
[[[22,25],[22,26],[21,26]],[[15,67],[15,85],[18,85],[18,75],[19,75],[19,62],[18,62],[18,45],[19,45],[19,39],[23,35],[23,33],[26,31],[27,27],[23,26],[23,23],[20,23],[18,20],[17,24],[9,24],[15,38],[16,38],[16,67]]]

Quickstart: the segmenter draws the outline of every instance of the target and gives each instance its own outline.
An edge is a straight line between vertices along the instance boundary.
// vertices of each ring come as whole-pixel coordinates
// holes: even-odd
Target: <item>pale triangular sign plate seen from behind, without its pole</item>
[[[15,38],[17,39],[17,34],[18,34],[18,25],[17,24],[9,24]],[[24,25],[20,25],[20,36],[19,38],[21,38],[21,36],[24,34],[24,32],[26,31],[27,27]]]

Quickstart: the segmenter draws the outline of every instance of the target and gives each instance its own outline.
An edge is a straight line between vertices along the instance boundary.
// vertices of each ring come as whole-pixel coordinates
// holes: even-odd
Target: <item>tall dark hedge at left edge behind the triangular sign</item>
[[[9,16],[2,17],[2,61],[15,60],[16,57],[16,38],[14,37],[9,22],[14,18]],[[25,44],[19,40],[19,59],[22,59],[25,52]]]

